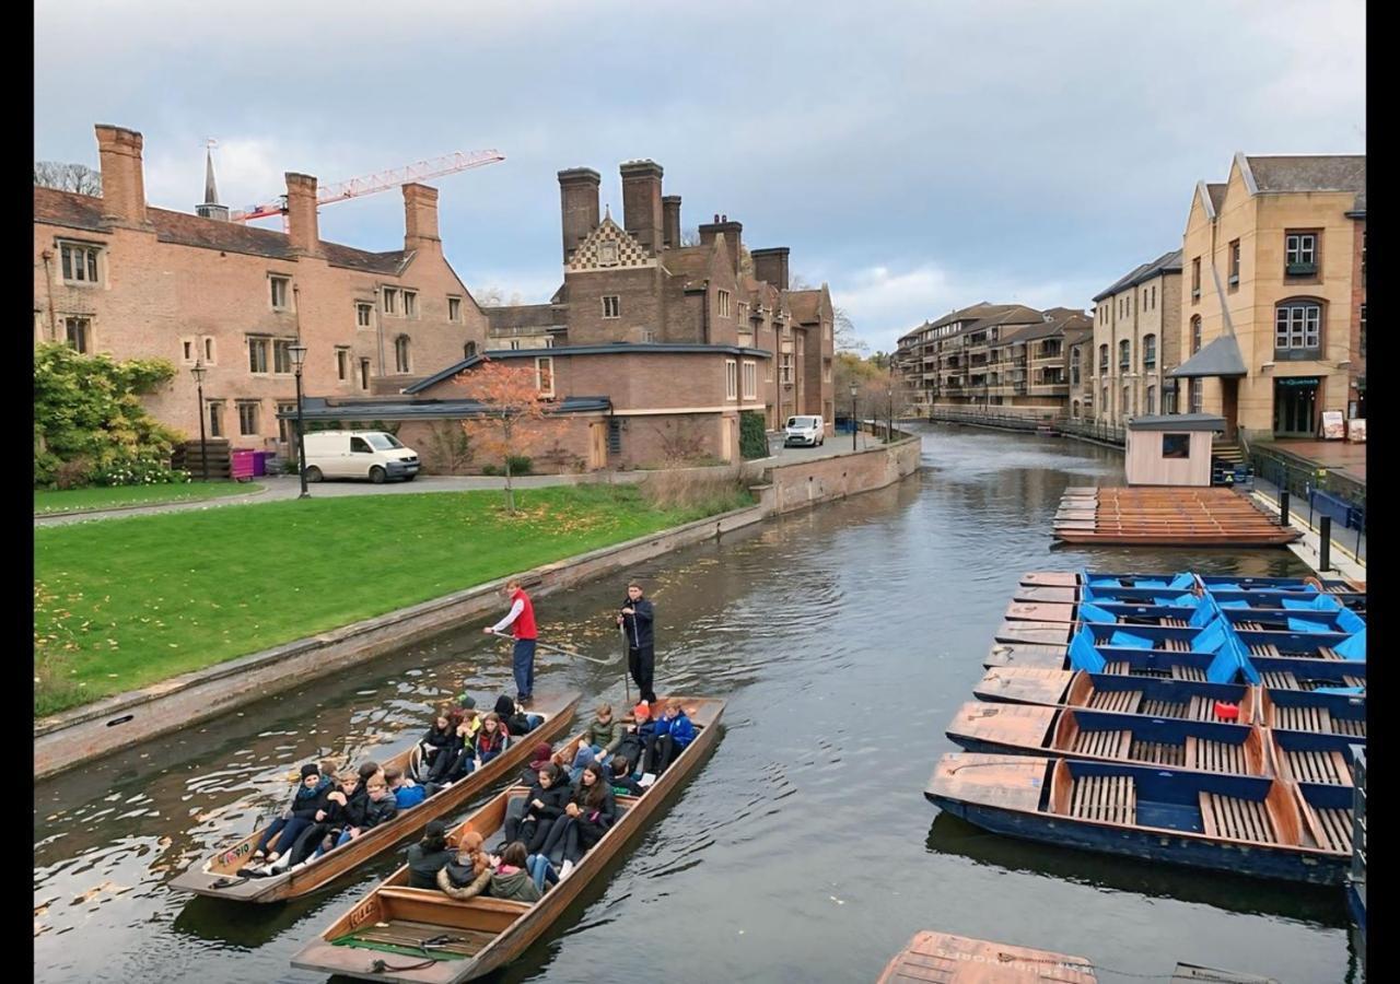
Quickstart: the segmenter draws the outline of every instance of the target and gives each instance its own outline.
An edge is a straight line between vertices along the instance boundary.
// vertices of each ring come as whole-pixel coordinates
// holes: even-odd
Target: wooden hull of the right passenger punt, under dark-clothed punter
[[[458,901],[435,889],[409,887],[409,869],[405,865],[304,946],[291,959],[291,966],[374,981],[456,984],[489,974],[518,957],[549,931],[584,887],[643,827],[647,817],[714,747],[724,701],[708,697],[664,697],[655,707],[664,710],[671,701],[686,708],[696,725],[696,739],[641,796],[617,796],[622,809],[617,822],[540,901],[490,897]],[[581,739],[580,735],[571,745]],[[458,824],[451,831],[449,841],[459,843],[468,830],[476,830],[486,838],[489,848],[494,847],[505,823],[510,801],[525,794],[525,787],[501,792]]]

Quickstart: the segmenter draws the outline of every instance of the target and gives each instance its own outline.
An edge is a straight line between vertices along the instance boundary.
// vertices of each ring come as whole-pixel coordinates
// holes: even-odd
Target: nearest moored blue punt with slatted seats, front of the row
[[[1109,761],[951,753],[924,795],[993,833],[1257,878],[1341,885],[1351,788]]]

